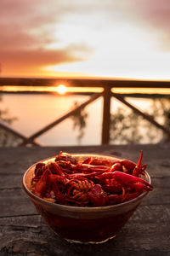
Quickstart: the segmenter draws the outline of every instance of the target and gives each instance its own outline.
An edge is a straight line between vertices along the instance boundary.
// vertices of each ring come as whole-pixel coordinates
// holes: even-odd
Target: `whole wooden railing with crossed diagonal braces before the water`
[[[103,102],[103,124],[102,124],[102,135],[101,143],[109,144],[110,143],[110,123],[111,123],[111,97],[115,97],[118,101],[125,104],[128,108],[131,108],[133,112],[141,115],[144,119],[147,119],[151,124],[156,125],[157,128],[161,129],[164,133],[167,134],[167,137],[170,138],[170,130],[168,130],[163,125],[160,125],[156,122],[155,119],[147,115],[146,113],[141,112],[138,108],[134,107],[131,103],[127,102],[124,99],[124,96],[127,94],[115,93],[112,91],[114,88],[143,88],[145,93],[150,88],[170,88],[170,81],[146,81],[146,80],[127,80],[127,79],[13,79],[13,78],[0,78],[0,86],[57,86],[59,84],[66,84],[71,87],[97,87],[102,88],[103,91],[99,93],[94,93],[89,96],[88,101],[83,102],[80,106],[74,110],[65,113],[59,119],[54,120],[53,123],[42,127],[40,131],[35,132],[30,137],[26,137],[21,134],[19,131],[14,131],[10,126],[4,124],[0,121],[0,127],[13,133],[15,136],[18,136],[22,139],[20,145],[26,145],[28,143],[41,146],[40,143],[36,141],[37,137],[45,133],[58,125],[63,120],[71,117],[71,115],[77,113],[82,108],[85,108],[88,104],[97,100],[100,96],[104,98]],[[129,94],[128,94],[129,96]],[[132,96],[132,94],[131,94]]]

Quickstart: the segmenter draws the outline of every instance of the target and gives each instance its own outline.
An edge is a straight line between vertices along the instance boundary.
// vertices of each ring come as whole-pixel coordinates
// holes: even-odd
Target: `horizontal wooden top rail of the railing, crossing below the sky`
[[[0,86],[57,86],[65,84],[74,87],[117,87],[117,88],[170,88],[170,80],[135,80],[135,79],[31,79],[0,78]]]

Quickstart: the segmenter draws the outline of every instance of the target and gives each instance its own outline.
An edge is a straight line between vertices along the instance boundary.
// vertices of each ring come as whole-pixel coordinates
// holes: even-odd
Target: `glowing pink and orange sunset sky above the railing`
[[[170,79],[169,0],[1,0],[3,77]]]

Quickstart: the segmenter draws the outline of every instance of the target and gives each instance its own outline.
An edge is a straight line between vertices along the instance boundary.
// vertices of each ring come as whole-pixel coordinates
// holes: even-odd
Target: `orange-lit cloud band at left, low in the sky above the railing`
[[[77,56],[75,49],[18,49],[0,51],[0,62],[2,75],[27,75],[41,73],[41,68],[61,63],[82,61],[81,56]]]

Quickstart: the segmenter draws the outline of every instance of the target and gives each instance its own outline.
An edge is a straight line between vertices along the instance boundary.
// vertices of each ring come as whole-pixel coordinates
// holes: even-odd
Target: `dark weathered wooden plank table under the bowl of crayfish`
[[[54,235],[21,186],[29,166],[60,150],[136,161],[141,149],[155,189],[116,238],[103,244],[74,244]],[[0,148],[0,255],[170,255],[170,144]]]

